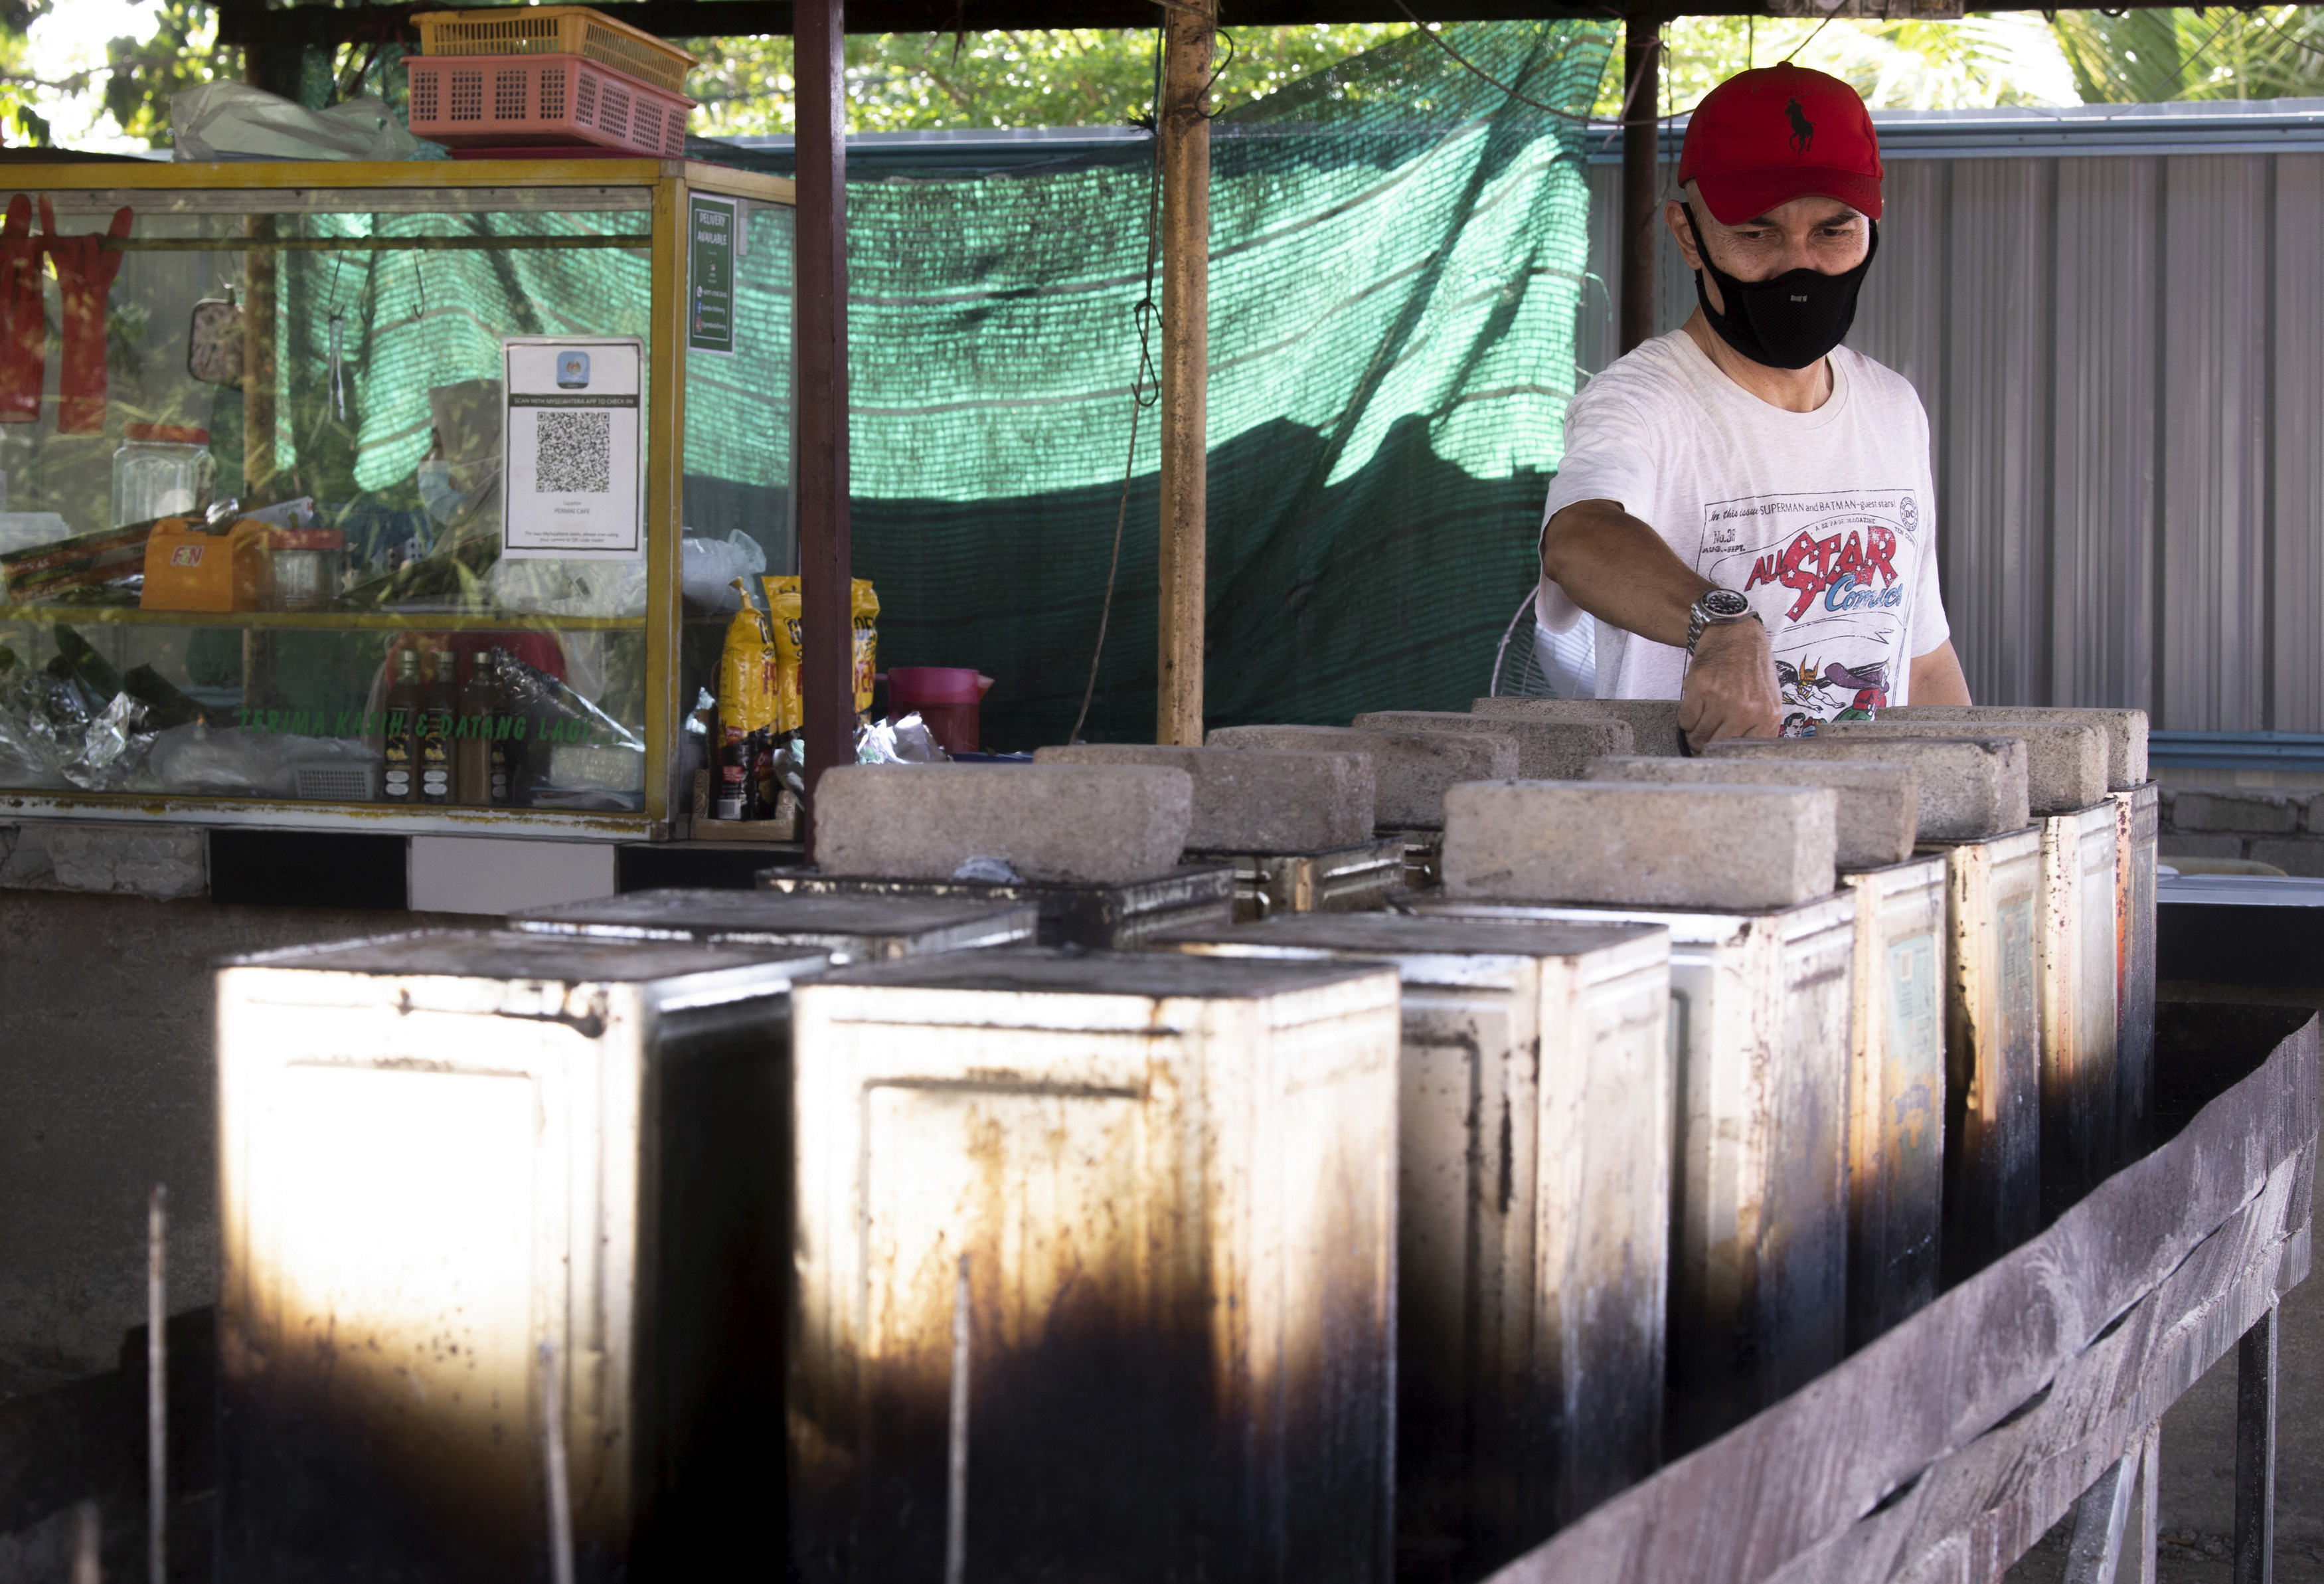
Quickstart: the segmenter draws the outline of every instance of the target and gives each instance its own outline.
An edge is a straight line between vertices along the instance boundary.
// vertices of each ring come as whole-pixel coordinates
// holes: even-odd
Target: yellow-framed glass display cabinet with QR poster
[[[790,181],[0,174],[0,821],[683,833],[795,558]]]

